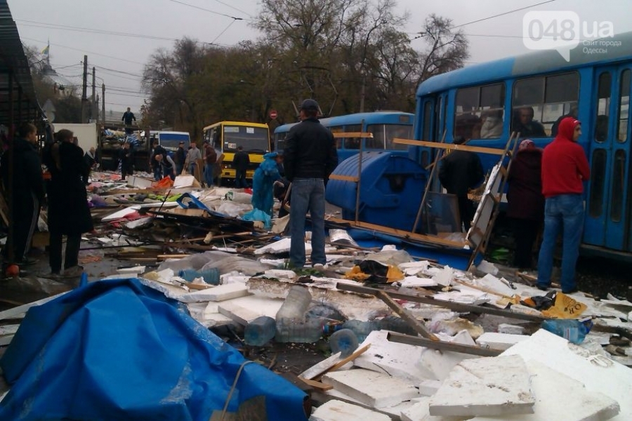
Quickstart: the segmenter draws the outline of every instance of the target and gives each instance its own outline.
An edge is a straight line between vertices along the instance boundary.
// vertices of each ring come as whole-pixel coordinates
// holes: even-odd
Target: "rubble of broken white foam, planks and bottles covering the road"
[[[289,344],[329,349],[305,338],[334,340],[332,333],[348,330],[335,339],[355,338],[338,344],[353,347],[348,356],[326,351],[293,373],[318,406],[312,421],[632,419],[626,300],[547,294],[489,262],[464,272],[393,246],[362,246],[338,225],[330,227],[327,265],[289,269],[283,229],[241,219],[252,210],[243,189],[199,189],[183,176],[170,187],[147,185],[142,175],[94,180],[100,223],[82,249],[129,262],[98,276],[104,286],[138,278],[185,306],[197,326],[229,332],[246,355],[253,348],[243,339],[246,326],[262,316],[275,322],[266,326],[277,342]],[[309,256],[309,234],[305,243]],[[279,318],[297,286],[301,311]],[[29,307],[46,301],[0,312],[0,321],[11,321],[0,329],[0,346],[11,343]],[[541,329],[546,320],[579,319],[584,328],[560,329],[566,338]],[[282,323],[289,340],[280,340]]]

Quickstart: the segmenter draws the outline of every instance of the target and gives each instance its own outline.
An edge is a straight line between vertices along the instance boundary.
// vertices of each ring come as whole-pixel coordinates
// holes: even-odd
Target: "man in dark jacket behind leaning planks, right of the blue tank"
[[[465,140],[456,138],[454,143],[461,145]],[[472,225],[475,208],[474,203],[468,199],[469,189],[480,185],[483,179],[482,164],[477,154],[469,151],[452,151],[439,169],[439,180],[449,194],[455,194],[459,201],[459,213],[466,232]]]

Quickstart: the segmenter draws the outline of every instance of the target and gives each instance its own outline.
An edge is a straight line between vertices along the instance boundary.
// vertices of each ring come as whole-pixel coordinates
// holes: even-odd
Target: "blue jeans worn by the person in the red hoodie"
[[[575,264],[579,257],[579,241],[584,227],[584,201],[581,194],[560,194],[544,204],[544,239],[538,258],[538,286],[551,286],[553,251],[562,232],[562,291],[577,288]]]

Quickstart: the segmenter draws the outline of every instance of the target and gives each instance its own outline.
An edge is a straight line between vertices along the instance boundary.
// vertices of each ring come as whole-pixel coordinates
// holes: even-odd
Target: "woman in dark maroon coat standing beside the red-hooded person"
[[[513,265],[519,269],[532,268],[533,243],[544,220],[541,169],[542,149],[532,140],[522,140],[507,179],[507,216],[515,240]]]

